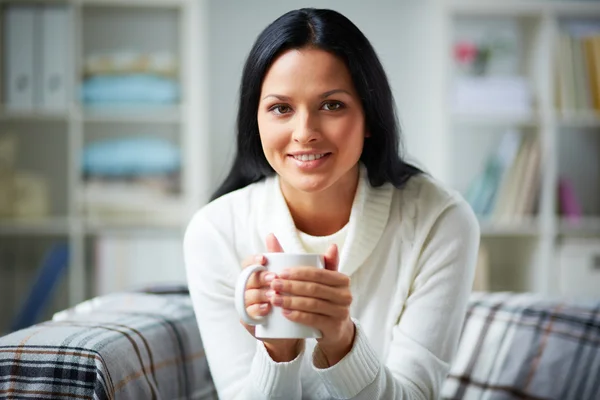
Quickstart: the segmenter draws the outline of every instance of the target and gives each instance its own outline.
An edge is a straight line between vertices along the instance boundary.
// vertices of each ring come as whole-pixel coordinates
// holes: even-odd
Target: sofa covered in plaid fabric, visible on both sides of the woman
[[[599,400],[600,302],[473,293],[442,397]],[[0,338],[0,398],[217,393],[182,288],[102,296]]]

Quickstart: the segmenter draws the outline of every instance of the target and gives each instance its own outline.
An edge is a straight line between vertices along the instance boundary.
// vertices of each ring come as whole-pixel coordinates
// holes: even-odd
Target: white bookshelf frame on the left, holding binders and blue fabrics
[[[70,10],[71,40],[66,46],[70,53],[71,90],[66,109],[51,112],[11,111],[3,106],[0,95],[0,134],[8,131],[18,134],[19,146],[23,147],[20,152],[34,159],[25,163],[26,167],[42,173],[52,187],[50,215],[31,220],[0,219],[0,241],[11,237],[36,240],[40,236],[66,240],[71,249],[68,303],[73,305],[92,295],[85,283],[94,274],[89,260],[93,258],[96,236],[162,235],[180,239],[193,212],[208,199],[210,152],[205,137],[208,111],[204,98],[207,6],[204,1],[196,0],[0,0],[0,21],[4,10],[14,4],[56,4]],[[180,88],[177,104],[111,108],[87,107],[79,100],[84,58],[95,51],[122,50],[122,45],[139,52],[174,53]],[[0,63],[5,57],[2,50],[0,46]],[[178,218],[91,219],[82,214],[78,194],[83,185],[80,160],[84,146],[92,139],[118,136],[115,132],[140,135],[152,132],[153,136],[168,138],[178,145],[182,155]],[[37,146],[31,144],[40,138],[42,142]],[[54,148],[59,154],[52,153]],[[19,159],[17,167],[21,167],[20,163]],[[55,189],[56,185],[60,190]]]

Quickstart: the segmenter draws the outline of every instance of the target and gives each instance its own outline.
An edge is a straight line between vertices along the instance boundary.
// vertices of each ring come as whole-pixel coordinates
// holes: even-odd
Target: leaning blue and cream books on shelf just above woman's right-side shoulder
[[[482,219],[521,222],[537,212],[541,149],[537,137],[510,130],[465,195]]]

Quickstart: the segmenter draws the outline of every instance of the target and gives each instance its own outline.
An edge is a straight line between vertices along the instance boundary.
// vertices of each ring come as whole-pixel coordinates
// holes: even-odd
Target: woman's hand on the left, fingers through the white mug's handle
[[[282,253],[283,249],[275,235],[267,236],[267,251],[269,253]],[[250,265],[260,264],[265,265],[267,258],[262,255],[253,255],[246,257],[242,261],[242,267],[247,268]],[[257,271],[250,276],[244,293],[246,303],[246,312],[252,318],[264,317],[274,307],[271,304],[270,297],[274,294],[270,285],[271,281],[277,276],[268,271]],[[248,325],[240,321],[246,330],[254,336],[254,326]],[[256,336],[254,336],[256,338]],[[301,339],[260,339],[265,344],[265,348],[269,355],[276,362],[288,362],[295,359],[300,353]]]

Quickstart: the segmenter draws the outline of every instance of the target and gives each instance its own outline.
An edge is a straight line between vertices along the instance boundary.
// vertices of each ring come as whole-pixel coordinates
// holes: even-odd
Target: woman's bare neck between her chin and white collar
[[[331,187],[307,193],[281,185],[283,196],[296,228],[312,236],[328,236],[350,220],[358,187],[359,169],[349,172]]]

